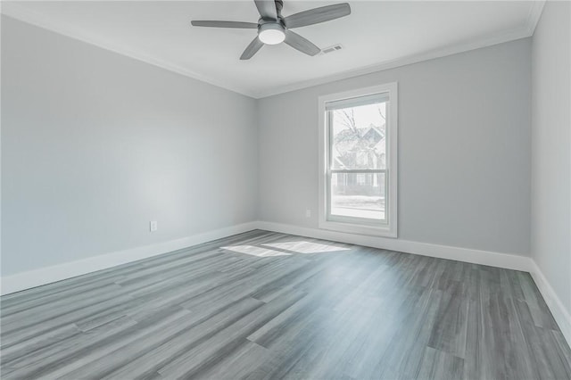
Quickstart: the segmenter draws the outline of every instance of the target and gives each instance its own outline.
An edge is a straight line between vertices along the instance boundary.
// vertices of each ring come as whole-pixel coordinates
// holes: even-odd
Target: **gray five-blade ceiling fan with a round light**
[[[308,25],[319,24],[319,22],[331,21],[351,14],[351,7],[347,3],[321,6],[292,14],[282,16],[283,0],[254,0],[260,20],[254,22],[240,21],[192,21],[194,27],[210,28],[236,28],[236,29],[258,29],[258,36],[250,45],[246,47],[241,60],[249,60],[253,54],[258,53],[264,44],[277,45],[285,42],[294,49],[308,55],[318,54],[321,49],[290,29],[306,27]]]

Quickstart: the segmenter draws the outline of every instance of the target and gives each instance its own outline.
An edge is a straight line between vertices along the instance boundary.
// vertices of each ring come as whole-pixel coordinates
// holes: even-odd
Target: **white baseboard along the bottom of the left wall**
[[[257,228],[256,222],[220,228],[202,234],[183,237],[169,242],[131,248],[124,251],[105,253],[83,260],[66,262],[46,268],[29,270],[2,277],[0,294],[20,292],[39,285],[51,284],[70,277],[77,277],[97,270],[115,267],[128,262],[172,252],[191,245],[203,244],[230,235],[241,234]]]

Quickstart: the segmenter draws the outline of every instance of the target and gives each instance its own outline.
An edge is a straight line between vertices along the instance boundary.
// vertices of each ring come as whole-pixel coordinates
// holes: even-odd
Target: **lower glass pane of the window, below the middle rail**
[[[385,216],[385,173],[333,173],[332,216],[375,219]]]

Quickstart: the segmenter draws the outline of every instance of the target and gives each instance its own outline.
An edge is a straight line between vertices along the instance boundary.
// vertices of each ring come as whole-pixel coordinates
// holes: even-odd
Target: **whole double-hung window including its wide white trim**
[[[397,84],[319,97],[319,227],[396,237]]]

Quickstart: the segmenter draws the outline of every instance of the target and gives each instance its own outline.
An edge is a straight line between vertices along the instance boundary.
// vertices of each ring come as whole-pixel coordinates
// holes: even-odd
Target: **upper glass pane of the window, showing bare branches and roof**
[[[386,169],[386,102],[328,111],[332,169]]]

